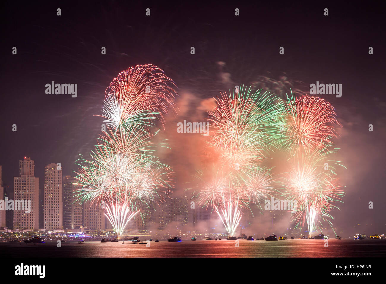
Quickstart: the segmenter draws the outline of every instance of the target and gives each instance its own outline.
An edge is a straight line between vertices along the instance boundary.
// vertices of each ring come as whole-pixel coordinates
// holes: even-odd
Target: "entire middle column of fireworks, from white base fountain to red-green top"
[[[244,85],[215,100],[217,107],[208,112],[211,136],[204,153],[212,168],[200,173],[194,198],[200,206],[212,207],[233,235],[242,209],[251,210],[250,204],[261,208],[260,202],[275,192],[270,170],[258,165],[277,145],[282,110],[276,96]]]

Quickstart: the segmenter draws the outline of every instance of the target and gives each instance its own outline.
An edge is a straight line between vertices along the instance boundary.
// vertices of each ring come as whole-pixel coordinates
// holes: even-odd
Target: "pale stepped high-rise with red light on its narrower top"
[[[19,177],[14,177],[13,197],[14,201],[30,201],[30,213],[14,210],[14,229],[39,229],[39,178],[34,175],[34,161],[29,157],[19,160]]]

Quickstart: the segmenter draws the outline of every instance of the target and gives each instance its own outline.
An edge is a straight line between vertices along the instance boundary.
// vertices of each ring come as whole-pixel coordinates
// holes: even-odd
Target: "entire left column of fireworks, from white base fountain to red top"
[[[141,208],[171,192],[171,170],[159,162],[149,129],[174,111],[173,81],[154,65],[122,71],[106,89],[102,109],[107,129],[90,159],[81,157],[75,196],[90,204],[106,204],[106,216],[119,235]],[[141,214],[142,216],[142,214]]]

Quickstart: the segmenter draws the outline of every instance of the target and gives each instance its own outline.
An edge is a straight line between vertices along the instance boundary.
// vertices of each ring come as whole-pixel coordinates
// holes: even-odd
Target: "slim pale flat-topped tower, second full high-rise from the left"
[[[44,168],[44,229],[63,229],[62,170],[55,163]]]

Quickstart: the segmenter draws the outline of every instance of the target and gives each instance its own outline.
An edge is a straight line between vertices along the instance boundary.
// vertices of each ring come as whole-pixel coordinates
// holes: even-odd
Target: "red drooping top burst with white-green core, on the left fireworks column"
[[[122,71],[105,91],[104,122],[112,129],[146,131],[152,121],[164,125],[164,114],[174,110],[174,82],[154,65],[137,65]]]

